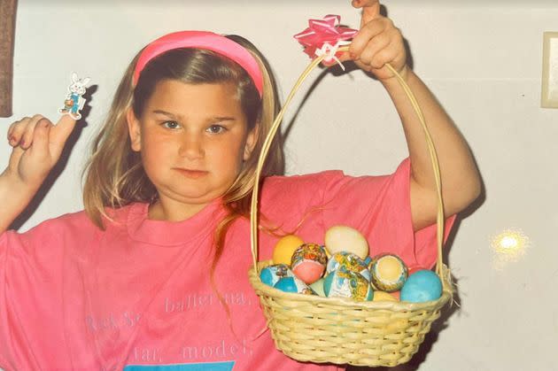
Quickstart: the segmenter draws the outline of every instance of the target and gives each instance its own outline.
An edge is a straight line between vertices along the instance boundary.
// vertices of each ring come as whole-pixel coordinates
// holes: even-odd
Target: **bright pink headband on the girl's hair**
[[[260,66],[252,54],[245,50],[243,46],[233,42],[227,37],[213,34],[208,31],[180,31],[173,34],[164,35],[150,43],[143,49],[139,59],[137,59],[136,69],[134,70],[134,86],[136,86],[140,73],[147,63],[160,54],[168,50],[179,48],[198,48],[212,50],[224,57],[235,61],[250,75],[256,89],[263,92],[263,77]]]

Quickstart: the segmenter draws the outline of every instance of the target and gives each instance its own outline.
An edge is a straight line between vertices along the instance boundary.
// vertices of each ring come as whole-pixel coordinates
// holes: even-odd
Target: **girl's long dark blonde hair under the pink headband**
[[[243,37],[227,37],[244,46],[256,58],[264,78],[262,97],[260,98],[252,79],[242,67],[213,51],[198,49],[170,50],[153,58],[143,69],[134,89],[132,74],[138,58],[136,56],[124,73],[105,123],[94,140],[92,155],[84,171],[83,187],[85,211],[97,227],[102,229],[105,228],[105,220],[111,220],[111,209],[134,202],[154,202],[158,196],[157,189],[145,174],[139,153],[131,150],[127,110],[132,108],[136,117],[140,117],[144,102],[151,97],[155,85],[161,80],[235,83],[248,128],[257,128],[257,139],[252,156],[244,162],[236,181],[222,197],[228,214],[215,231],[212,281],[213,270],[221,257],[229,226],[237,218],[249,216],[258,155],[279,106],[275,80],[260,51]],[[263,175],[283,174],[282,144],[280,135],[277,135],[269,151]]]

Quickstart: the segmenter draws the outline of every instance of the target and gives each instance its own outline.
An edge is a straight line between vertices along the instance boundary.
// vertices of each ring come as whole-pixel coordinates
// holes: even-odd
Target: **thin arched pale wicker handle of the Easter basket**
[[[338,49],[338,51],[346,51],[346,50],[349,50],[348,45],[343,46],[343,47]],[[314,68],[316,66],[318,66],[320,64],[320,62],[322,62],[322,59],[325,58],[325,57],[326,57],[325,55],[322,55],[318,58],[315,58],[310,63],[310,65],[308,65],[306,67],[304,72],[300,74],[300,77],[298,77],[298,81],[295,83],[294,87],[291,89],[291,93],[289,93],[289,97],[287,97],[287,100],[285,101],[285,104],[283,104],[283,108],[281,109],[281,111],[275,117],[273,125],[271,126],[271,128],[269,130],[269,133],[267,134],[266,140],[263,143],[263,146],[262,146],[262,149],[261,149],[261,152],[260,152],[260,158],[258,159],[258,165],[256,167],[254,187],[253,187],[253,190],[252,190],[252,204],[251,204],[251,209],[250,209],[250,238],[251,238],[251,248],[252,248],[252,259],[253,259],[254,270],[255,270],[256,274],[259,273],[258,272],[258,198],[259,198],[259,194],[260,194],[261,170],[263,168],[264,162],[266,161],[267,152],[269,151],[269,148],[271,146],[273,138],[275,137],[275,133],[277,132],[277,129],[281,125],[281,121],[283,120],[283,115],[286,112],[287,107],[289,106],[289,104],[291,104],[292,98],[294,97],[295,93],[298,91],[298,88],[300,88],[300,85],[302,84],[302,82],[306,80],[306,77],[312,72],[312,70],[314,70]],[[437,204],[438,204],[438,210],[437,210],[437,216],[436,216],[437,227],[438,227],[437,228],[438,259],[436,261],[436,273],[438,274],[438,276],[441,279],[442,278],[442,265],[443,265],[442,244],[444,243],[444,204],[443,204],[443,201],[442,201],[442,187],[441,187],[441,180],[440,180],[440,169],[439,169],[439,165],[438,165],[438,156],[436,154],[436,149],[434,148],[434,143],[432,143],[432,138],[430,136],[430,132],[429,132],[428,128],[426,127],[426,122],[424,120],[424,116],[422,115],[421,107],[419,106],[418,102],[416,101],[415,95],[413,94],[411,89],[408,87],[407,82],[405,82],[403,80],[403,78],[399,75],[399,73],[397,71],[395,71],[395,69],[389,63],[386,64],[385,66],[390,69],[391,73],[394,74],[394,76],[399,81],[399,84],[404,89],[405,94],[409,98],[409,101],[413,105],[413,109],[415,110],[415,113],[416,113],[419,121],[421,122],[422,130],[424,131],[428,151],[429,151],[429,154],[430,154],[430,160],[431,160],[431,163],[432,163],[432,169],[434,170],[434,178],[435,178],[435,181],[436,181],[436,195],[437,195]],[[442,281],[442,285],[444,286],[444,289],[446,289],[446,283],[445,283],[446,280],[441,279],[441,281]]]

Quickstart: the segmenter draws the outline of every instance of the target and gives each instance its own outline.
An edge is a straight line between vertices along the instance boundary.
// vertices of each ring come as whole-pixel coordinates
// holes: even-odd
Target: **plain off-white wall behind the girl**
[[[407,37],[415,71],[469,140],[486,189],[482,205],[462,220],[449,254],[461,308],[449,316],[437,340],[429,336],[436,341],[422,348],[424,354],[401,368],[553,369],[558,110],[539,108],[539,100],[542,33],[558,31],[558,3],[385,3]],[[349,0],[19,1],[14,115],[0,119],[0,135],[23,115],[41,112],[55,120],[72,71],[88,74],[97,85],[88,125],[80,130],[66,167],[20,229],[81,209],[84,153],[120,74],[144,43],[179,29],[244,35],[267,55],[286,96],[308,62],[291,35],[306,27],[309,16],[327,13],[340,14],[349,26],[359,24]],[[285,123],[304,93],[299,92]],[[406,156],[390,101],[358,71],[323,78],[302,106],[286,144],[290,174],[324,168],[383,174]],[[1,141],[1,167],[9,153]],[[529,238],[523,254],[492,249],[492,237],[507,228]]]

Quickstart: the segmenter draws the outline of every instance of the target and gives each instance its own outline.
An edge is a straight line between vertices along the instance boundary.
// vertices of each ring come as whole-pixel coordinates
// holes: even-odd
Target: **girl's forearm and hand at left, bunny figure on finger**
[[[57,125],[41,115],[25,117],[8,129],[12,155],[0,174],[0,233],[27,207],[58,162],[75,120],[64,115]]]

